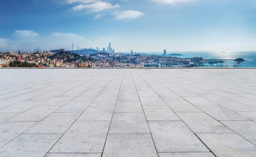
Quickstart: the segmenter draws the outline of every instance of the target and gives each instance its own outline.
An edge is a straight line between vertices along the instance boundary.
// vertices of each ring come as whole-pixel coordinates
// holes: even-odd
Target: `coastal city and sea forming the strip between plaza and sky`
[[[238,60],[236,60],[238,59]],[[240,59],[240,61],[239,61]],[[256,52],[167,52],[81,54],[65,50],[0,53],[0,67],[68,68],[255,68]]]

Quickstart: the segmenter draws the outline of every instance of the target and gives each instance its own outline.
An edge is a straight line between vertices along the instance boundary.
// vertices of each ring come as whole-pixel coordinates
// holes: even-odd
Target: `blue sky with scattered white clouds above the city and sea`
[[[256,50],[256,0],[1,0],[0,51]]]

